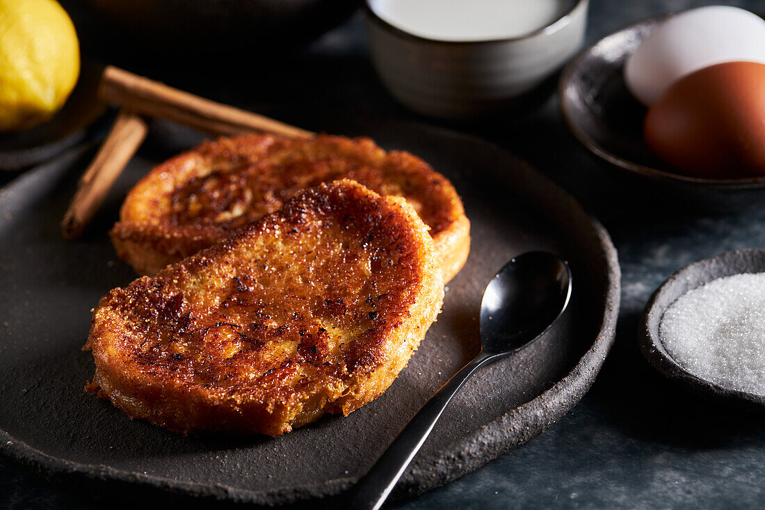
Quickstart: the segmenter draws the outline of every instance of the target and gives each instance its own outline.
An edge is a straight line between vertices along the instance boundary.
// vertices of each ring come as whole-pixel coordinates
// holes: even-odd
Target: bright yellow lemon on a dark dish
[[[0,0],[0,131],[50,119],[80,74],[80,44],[55,0]]]

